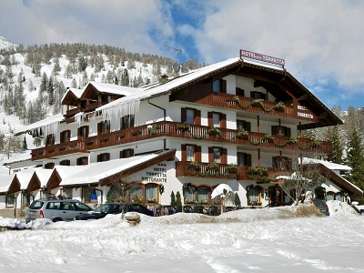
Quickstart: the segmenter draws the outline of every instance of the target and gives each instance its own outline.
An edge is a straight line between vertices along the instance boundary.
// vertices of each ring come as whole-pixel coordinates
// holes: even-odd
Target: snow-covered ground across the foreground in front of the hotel
[[[0,272],[364,272],[364,217],[329,201],[330,217],[294,217],[293,207],[219,217],[141,215],[30,222],[0,232]],[[0,218],[0,226],[25,227]]]

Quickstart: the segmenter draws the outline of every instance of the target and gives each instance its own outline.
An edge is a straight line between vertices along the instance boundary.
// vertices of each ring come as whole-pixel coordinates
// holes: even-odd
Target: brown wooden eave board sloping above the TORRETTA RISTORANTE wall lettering
[[[116,174],[100,179],[100,184],[101,186],[110,186],[114,184],[117,180],[131,176],[143,169],[146,169],[147,167],[155,166],[156,164],[166,160],[172,160],[176,156],[176,151],[177,151],[176,149],[164,151],[157,157],[149,159],[146,162],[136,164],[133,167],[128,167],[121,172],[117,172]]]

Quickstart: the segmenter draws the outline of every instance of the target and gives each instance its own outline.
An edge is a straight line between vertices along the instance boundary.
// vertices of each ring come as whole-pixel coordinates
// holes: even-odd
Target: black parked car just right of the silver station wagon
[[[153,216],[153,212],[148,209],[146,206],[131,203],[125,205],[125,212],[136,211],[138,213],[145,214],[147,216]],[[88,213],[79,215],[76,217],[76,220],[95,220],[106,217],[107,214],[119,214],[121,213],[121,204],[120,203],[106,203],[97,207],[95,210],[90,211]]]

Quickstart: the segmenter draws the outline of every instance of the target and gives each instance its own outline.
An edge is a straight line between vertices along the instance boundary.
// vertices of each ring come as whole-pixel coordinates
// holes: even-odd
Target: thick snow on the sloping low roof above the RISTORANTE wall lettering
[[[63,174],[60,174],[62,177],[60,186],[97,183],[102,178],[109,177],[117,172],[125,170],[126,168],[146,162],[147,160],[157,156],[157,154],[150,154],[145,156],[128,157],[77,167],[74,175],[63,177]],[[58,167],[56,167],[56,170],[58,171]]]

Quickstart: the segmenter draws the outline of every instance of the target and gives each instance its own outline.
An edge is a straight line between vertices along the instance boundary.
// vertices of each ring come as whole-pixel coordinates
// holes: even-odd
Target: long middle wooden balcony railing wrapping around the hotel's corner
[[[185,126],[177,122],[158,122],[154,125],[136,126],[122,129],[101,136],[90,136],[84,140],[74,140],[70,143],[45,146],[32,150],[32,160],[58,157],[74,152],[87,152],[102,147],[112,147],[120,144],[133,143],[155,137],[177,137],[186,139],[203,139],[210,142],[235,144],[239,146],[256,146],[275,149],[298,149],[303,153],[315,152],[329,154],[329,142],[315,142],[312,139],[288,136],[271,136],[267,134],[248,132],[248,136],[241,132],[226,128],[211,128],[209,126]]]

